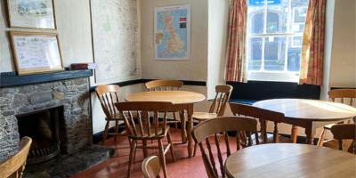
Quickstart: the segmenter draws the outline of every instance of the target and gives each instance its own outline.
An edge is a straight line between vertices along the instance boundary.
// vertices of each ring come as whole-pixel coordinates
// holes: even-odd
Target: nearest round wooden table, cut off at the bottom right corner
[[[228,177],[355,177],[356,157],[308,144],[272,143],[239,150],[225,162]]]

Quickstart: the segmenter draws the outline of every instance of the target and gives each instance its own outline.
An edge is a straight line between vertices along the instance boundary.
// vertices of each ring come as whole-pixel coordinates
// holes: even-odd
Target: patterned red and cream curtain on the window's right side
[[[310,0],[305,20],[300,84],[322,85],[327,0]]]

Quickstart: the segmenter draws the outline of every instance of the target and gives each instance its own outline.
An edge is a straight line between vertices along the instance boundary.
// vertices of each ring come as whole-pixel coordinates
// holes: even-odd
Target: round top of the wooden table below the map
[[[126,101],[167,101],[173,104],[189,104],[204,101],[206,97],[201,93],[187,91],[155,91],[134,93],[126,97]]]

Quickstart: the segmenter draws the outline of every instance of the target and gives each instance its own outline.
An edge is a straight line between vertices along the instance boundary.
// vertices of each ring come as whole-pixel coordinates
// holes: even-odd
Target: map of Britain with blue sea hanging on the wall
[[[157,60],[190,59],[190,5],[155,8]]]

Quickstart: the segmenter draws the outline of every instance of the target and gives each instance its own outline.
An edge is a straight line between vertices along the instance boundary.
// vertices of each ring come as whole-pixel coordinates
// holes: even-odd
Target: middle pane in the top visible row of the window
[[[284,33],[287,31],[289,0],[278,0],[267,7],[267,33]]]

